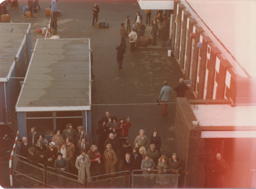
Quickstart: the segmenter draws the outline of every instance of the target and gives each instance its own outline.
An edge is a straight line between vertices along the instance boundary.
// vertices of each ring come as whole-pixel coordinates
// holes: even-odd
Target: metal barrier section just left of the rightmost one
[[[130,171],[87,178],[87,188],[130,188]],[[97,179],[97,180],[96,180]]]

